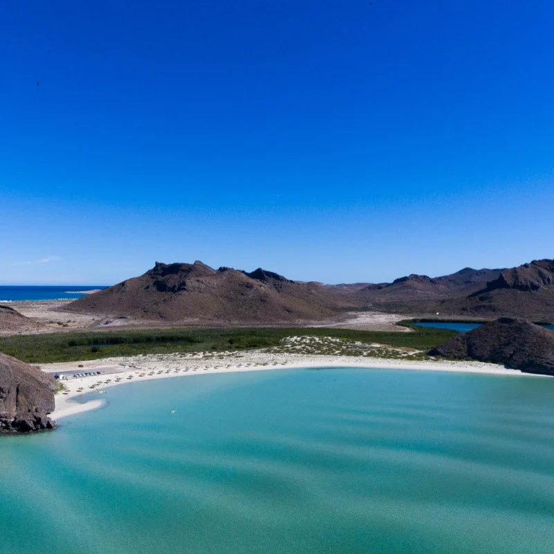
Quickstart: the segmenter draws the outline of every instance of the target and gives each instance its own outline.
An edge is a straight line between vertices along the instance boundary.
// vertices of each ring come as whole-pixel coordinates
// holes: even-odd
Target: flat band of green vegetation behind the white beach
[[[413,327],[412,332],[330,328],[164,328],[28,334],[0,339],[0,352],[30,363],[77,361],[139,354],[222,352],[279,346],[287,337],[334,337],[361,343],[429,350],[456,332]]]

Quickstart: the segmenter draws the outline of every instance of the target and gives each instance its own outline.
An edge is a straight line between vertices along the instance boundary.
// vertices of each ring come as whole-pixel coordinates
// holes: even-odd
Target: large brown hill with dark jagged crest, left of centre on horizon
[[[202,262],[156,265],[64,311],[189,324],[301,323],[337,317],[347,305],[320,283],[301,283],[263,269],[251,273]]]

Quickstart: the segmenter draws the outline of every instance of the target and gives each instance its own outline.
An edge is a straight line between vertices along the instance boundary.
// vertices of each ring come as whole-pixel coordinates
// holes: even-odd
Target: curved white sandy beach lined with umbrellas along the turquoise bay
[[[79,367],[80,366],[80,367]],[[96,361],[43,364],[48,373],[76,370],[82,373],[101,370],[102,375],[73,377],[63,381],[66,393],[55,397],[54,420],[60,420],[76,413],[98,409],[105,405],[104,399],[95,399],[79,404],[73,399],[93,391],[109,391],[112,386],[153,379],[204,375],[206,373],[239,373],[245,371],[278,370],[290,368],[352,367],[370,369],[395,369],[419,371],[447,371],[456,373],[478,373],[483,375],[512,375],[542,377],[506,369],[496,364],[479,361],[413,361],[354,356],[302,355],[273,353],[265,350],[229,352],[229,355],[172,354],[142,355],[125,358],[108,358]],[[116,381],[116,379],[118,379]],[[93,387],[93,388],[91,388]],[[78,390],[82,388],[82,390]]]

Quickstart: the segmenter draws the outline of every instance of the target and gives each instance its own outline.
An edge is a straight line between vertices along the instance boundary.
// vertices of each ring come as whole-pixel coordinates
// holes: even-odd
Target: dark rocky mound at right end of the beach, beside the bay
[[[554,331],[526,319],[503,317],[459,334],[429,355],[491,361],[526,373],[554,375]]]

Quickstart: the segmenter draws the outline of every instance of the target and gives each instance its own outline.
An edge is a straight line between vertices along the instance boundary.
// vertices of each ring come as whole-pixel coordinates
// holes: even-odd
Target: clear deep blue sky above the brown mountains
[[[553,20],[546,0],[6,0],[0,284],[553,258]]]

